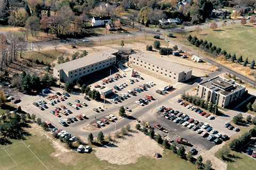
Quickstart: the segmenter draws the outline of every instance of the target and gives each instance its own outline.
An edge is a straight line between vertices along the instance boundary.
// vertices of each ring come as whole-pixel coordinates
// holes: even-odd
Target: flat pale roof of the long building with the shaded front
[[[91,65],[94,63],[101,62],[103,60],[107,60],[108,58],[113,58],[113,57],[115,57],[115,55],[113,55],[115,53],[118,53],[117,49],[109,49],[109,50],[106,50],[103,52],[90,54],[90,55],[87,55],[82,58],[78,58],[76,60],[72,60],[72,61],[69,61],[66,63],[55,65],[54,68],[57,70],[63,69],[65,71],[73,71],[75,69],[79,69],[79,68],[87,66],[87,65]]]

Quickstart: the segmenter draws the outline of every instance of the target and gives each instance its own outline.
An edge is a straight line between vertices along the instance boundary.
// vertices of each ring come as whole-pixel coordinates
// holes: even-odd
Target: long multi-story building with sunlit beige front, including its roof
[[[186,66],[142,52],[131,54],[129,64],[135,70],[177,82],[188,80],[192,76],[192,70]]]

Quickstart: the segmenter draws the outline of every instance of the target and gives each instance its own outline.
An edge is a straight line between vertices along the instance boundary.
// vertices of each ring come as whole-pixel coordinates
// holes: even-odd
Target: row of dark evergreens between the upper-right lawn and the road
[[[211,53],[214,56],[220,56],[220,57],[223,56],[225,57],[225,60],[229,60],[233,63],[234,62],[238,64],[243,63],[243,66],[247,66],[247,64],[249,64],[248,57],[246,57],[244,61],[243,61],[242,55],[236,59],[236,53],[234,53],[233,55],[231,55],[230,53],[228,54],[225,49],[222,50],[220,47],[216,47],[211,42],[207,42],[207,40],[203,40],[203,39],[199,40],[196,36],[192,37],[191,35],[187,37],[187,40],[189,41],[190,44],[198,47],[199,49],[203,49],[205,52]],[[250,64],[250,69],[253,69],[254,65],[255,65],[255,61],[253,60]]]

